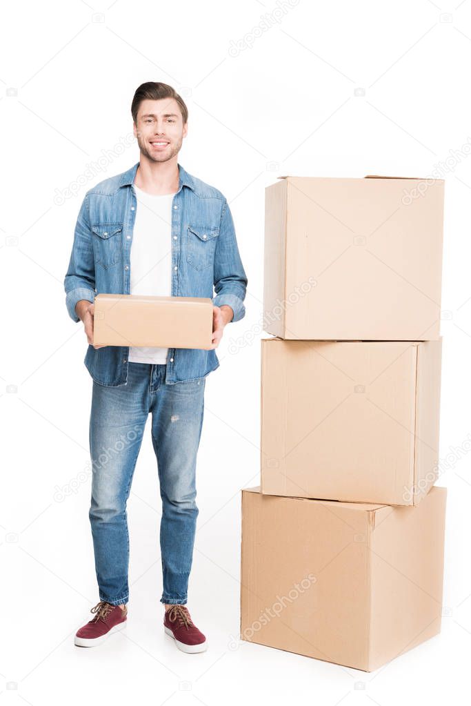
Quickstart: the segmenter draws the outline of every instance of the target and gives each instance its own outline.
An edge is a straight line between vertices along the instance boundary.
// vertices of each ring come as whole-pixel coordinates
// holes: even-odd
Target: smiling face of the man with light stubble
[[[175,157],[188,130],[175,98],[143,100],[136,123],[133,130],[137,144],[152,162],[167,162]]]

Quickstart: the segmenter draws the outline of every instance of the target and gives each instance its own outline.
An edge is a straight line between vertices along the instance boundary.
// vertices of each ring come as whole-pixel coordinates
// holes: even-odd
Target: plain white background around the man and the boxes
[[[471,432],[471,158],[463,155],[442,166],[442,633],[372,674],[247,642],[231,647],[239,630],[240,489],[259,479],[264,188],[280,174],[427,177],[450,150],[469,145],[471,1],[29,1],[8,4],[2,20],[0,706],[262,698],[386,706],[465,693],[470,457],[453,450]],[[188,606],[209,650],[194,656],[178,652],[161,628],[149,424],[128,504],[126,635],[94,650],[73,646],[98,595],[90,477],[78,482],[89,460],[92,381],[63,277],[85,191],[139,159],[130,103],[147,80],[170,83],[185,98],[189,130],[179,161],[228,198],[249,281],[247,314],[226,328],[221,367],[207,380]],[[104,169],[82,179],[104,154]],[[58,203],[81,179],[76,195]],[[245,345],[231,354],[238,337]],[[74,492],[58,501],[57,488],[67,486]]]

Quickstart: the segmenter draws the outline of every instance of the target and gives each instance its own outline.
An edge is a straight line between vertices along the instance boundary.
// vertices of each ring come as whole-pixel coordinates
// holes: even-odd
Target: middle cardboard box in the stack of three
[[[441,339],[262,339],[262,493],[417,505],[439,472]]]

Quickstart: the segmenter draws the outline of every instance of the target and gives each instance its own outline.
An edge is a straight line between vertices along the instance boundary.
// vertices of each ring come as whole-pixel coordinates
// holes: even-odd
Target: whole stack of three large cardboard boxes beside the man
[[[441,629],[443,202],[441,180],[267,188],[244,640],[372,671]]]

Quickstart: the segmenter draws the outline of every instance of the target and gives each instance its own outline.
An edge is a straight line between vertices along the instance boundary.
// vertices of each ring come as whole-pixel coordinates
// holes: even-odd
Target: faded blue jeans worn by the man
[[[165,384],[164,364],[129,363],[128,384],[93,382],[90,414],[90,524],[99,599],[128,602],[129,534],[126,513],[149,412],[157,457],[162,516],[161,603],[185,604],[198,508],[195,469],[204,413],[205,378]]]

